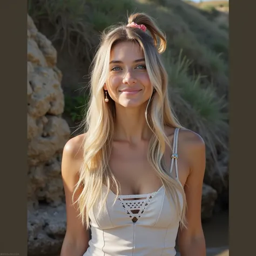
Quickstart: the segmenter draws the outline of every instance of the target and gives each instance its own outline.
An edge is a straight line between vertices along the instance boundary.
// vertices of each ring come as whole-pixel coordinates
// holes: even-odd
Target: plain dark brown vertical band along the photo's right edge
[[[254,8],[253,8],[254,7]],[[230,1],[230,214],[232,256],[255,254],[255,1]],[[254,37],[254,38],[253,38]],[[254,105],[254,107],[252,106]],[[253,197],[253,198],[252,198]]]

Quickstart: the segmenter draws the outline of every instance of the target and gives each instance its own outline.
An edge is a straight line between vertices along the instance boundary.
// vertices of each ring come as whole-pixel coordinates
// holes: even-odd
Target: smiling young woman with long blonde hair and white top
[[[177,237],[181,256],[206,255],[205,144],[173,116],[165,48],[164,33],[145,14],[103,33],[86,133],[63,152],[61,256],[174,256]]]

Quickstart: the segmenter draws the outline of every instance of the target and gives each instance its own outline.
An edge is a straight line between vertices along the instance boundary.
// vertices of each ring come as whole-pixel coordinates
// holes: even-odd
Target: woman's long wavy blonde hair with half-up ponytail
[[[116,200],[120,193],[119,183],[109,167],[114,133],[115,103],[111,98],[107,104],[104,102],[103,90],[109,72],[110,51],[113,45],[119,42],[138,43],[144,52],[147,72],[151,84],[156,90],[147,103],[145,113],[147,124],[154,134],[150,140],[147,156],[166,191],[172,195],[181,225],[185,226],[186,223],[186,200],[183,187],[171,177],[163,161],[165,143],[171,147],[169,139],[165,135],[164,126],[181,127],[171,110],[167,94],[168,77],[160,59],[160,53],[166,49],[166,38],[152,18],[145,14],[131,15],[129,24],[132,22],[145,25],[147,31],[127,27],[126,24],[107,28],[103,32],[91,66],[91,97],[89,110],[84,120],[86,131],[86,138],[83,143],[84,158],[79,172],[79,181],[75,187],[75,192],[79,187],[82,187],[82,193],[80,193],[77,202],[82,224],[86,224],[86,228],[90,227],[89,212],[99,200],[101,205],[98,214],[103,209],[111,184],[116,186]],[[104,198],[102,198],[103,184],[107,187]],[[183,206],[179,204],[177,191],[181,193],[184,199]]]

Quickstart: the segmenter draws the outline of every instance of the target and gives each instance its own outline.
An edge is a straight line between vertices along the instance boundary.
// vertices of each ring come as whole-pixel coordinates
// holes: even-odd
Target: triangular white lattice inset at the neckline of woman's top
[[[158,191],[149,194],[120,195],[118,199],[120,201],[120,204],[123,206],[124,211],[130,216],[133,223],[136,223],[136,221],[142,216],[151,199],[157,192]],[[138,199],[127,200],[129,198]],[[134,213],[132,211],[138,212]]]

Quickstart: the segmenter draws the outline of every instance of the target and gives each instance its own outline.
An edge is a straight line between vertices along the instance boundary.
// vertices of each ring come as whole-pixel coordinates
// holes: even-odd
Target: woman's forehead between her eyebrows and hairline
[[[110,61],[122,60],[123,62],[133,62],[140,58],[144,58],[144,52],[135,42],[117,43],[110,51]]]

